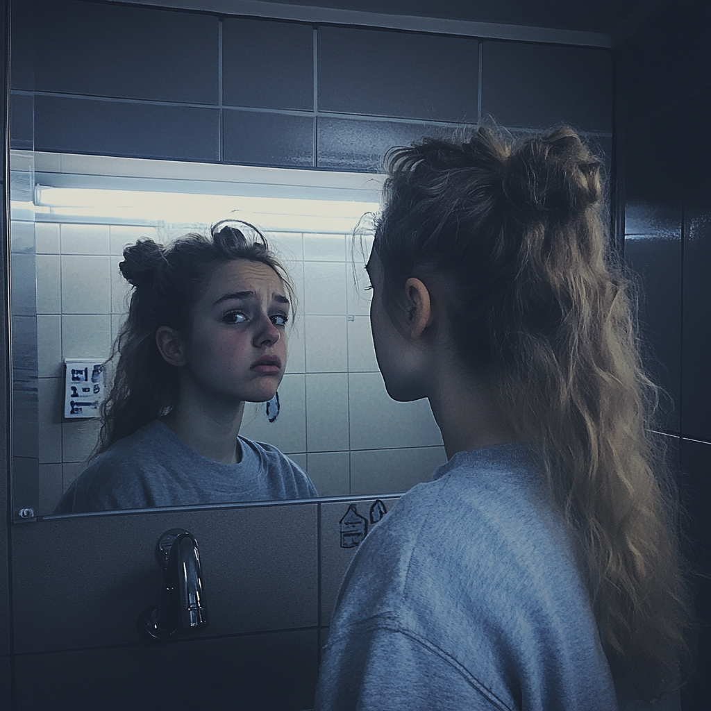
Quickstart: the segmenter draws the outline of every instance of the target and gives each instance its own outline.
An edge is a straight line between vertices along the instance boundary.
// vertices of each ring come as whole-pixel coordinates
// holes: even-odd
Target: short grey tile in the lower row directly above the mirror
[[[225,163],[310,168],[314,165],[314,117],[223,110]]]

